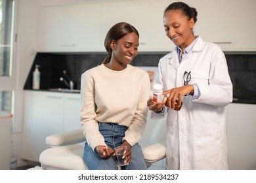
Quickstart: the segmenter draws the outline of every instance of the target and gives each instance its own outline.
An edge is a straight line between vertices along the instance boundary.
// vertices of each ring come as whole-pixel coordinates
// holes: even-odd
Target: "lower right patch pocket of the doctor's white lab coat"
[[[217,158],[223,156],[219,125],[194,125],[194,157]]]

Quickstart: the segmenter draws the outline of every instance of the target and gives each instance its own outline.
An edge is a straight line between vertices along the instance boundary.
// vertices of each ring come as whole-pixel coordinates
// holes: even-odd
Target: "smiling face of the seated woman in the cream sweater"
[[[137,56],[139,37],[136,33],[129,33],[117,41],[112,41],[112,60],[110,63],[115,67],[126,68],[129,63]]]

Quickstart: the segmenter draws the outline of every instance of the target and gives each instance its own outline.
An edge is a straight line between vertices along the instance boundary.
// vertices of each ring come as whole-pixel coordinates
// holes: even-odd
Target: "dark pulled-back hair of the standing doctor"
[[[169,5],[165,9],[164,14],[169,10],[181,10],[182,14],[184,14],[184,16],[188,16],[189,20],[193,18],[195,23],[196,23],[196,20],[198,20],[197,18],[198,12],[196,11],[196,8],[190,7],[186,3],[182,3],[182,2],[171,3],[171,5]]]

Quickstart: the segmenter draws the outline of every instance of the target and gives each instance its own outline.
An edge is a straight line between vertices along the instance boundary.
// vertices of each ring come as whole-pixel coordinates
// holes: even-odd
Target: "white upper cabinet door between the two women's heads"
[[[139,52],[171,51],[175,45],[165,35],[163,10],[167,3],[154,0],[118,1],[102,3],[102,35],[117,22],[133,25],[140,35]],[[114,10],[112,11],[111,9]]]

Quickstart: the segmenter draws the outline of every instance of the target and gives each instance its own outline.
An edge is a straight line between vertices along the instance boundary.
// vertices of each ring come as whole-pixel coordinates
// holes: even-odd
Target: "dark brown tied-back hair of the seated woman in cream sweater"
[[[110,48],[110,42],[112,40],[117,41],[118,39],[121,39],[125,35],[128,35],[129,33],[136,33],[139,37],[139,32],[133,25],[130,25],[126,22],[119,22],[115,25],[113,25],[108,33],[106,34],[106,38],[104,41],[104,46],[106,48],[106,51],[108,52],[108,56],[104,59],[103,63],[109,63],[110,58],[112,55],[112,49]]]

